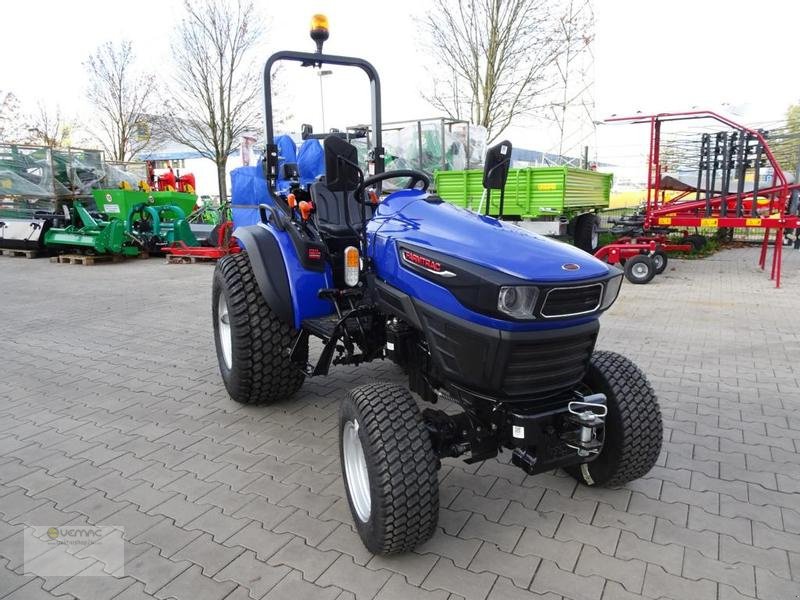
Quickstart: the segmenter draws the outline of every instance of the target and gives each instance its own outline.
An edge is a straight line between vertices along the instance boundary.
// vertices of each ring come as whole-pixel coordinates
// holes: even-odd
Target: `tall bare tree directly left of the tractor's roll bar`
[[[248,59],[262,33],[253,0],[186,0],[176,31],[165,133],[214,161],[221,200],[228,155],[258,122],[259,71]]]

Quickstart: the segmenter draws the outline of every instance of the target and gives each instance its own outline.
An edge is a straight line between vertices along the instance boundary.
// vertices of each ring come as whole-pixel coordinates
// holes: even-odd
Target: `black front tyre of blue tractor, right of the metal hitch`
[[[656,464],[664,429],[661,409],[647,377],[616,352],[592,355],[584,383],[606,395],[605,442],[600,455],[565,470],[586,485],[616,486],[642,477]]]

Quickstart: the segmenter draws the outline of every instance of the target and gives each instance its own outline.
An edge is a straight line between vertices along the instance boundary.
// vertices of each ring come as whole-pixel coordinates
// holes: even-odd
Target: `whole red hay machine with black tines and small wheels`
[[[702,134],[696,179],[687,183],[685,178],[664,174],[661,125],[692,119],[712,119],[727,129]],[[612,231],[621,237],[597,250],[597,258],[611,264],[624,263],[629,281],[648,283],[666,269],[667,253],[699,249],[705,243],[703,236],[689,234],[688,228],[761,228],[764,239],[759,266],[765,268],[774,233],[770,278],[780,287],[784,232],[796,229],[800,221],[797,207],[791,211],[794,214],[789,210],[792,192],[800,190],[800,183],[789,183],[767,144],[766,132],[710,111],[614,117],[608,121],[650,124],[647,200],[639,214],[612,221]],[[770,182],[761,186],[764,173],[771,173]],[[667,196],[667,192],[675,195]],[[672,242],[671,236],[681,231],[681,242]]]

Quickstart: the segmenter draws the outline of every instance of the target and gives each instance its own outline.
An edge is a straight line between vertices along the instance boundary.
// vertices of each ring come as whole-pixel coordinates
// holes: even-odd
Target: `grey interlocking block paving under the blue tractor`
[[[754,250],[626,285],[600,346],[650,375],[667,440],[616,490],[447,461],[441,530],[374,557],[343,499],[340,368],[270,408],[232,403],[212,267],[0,259],[0,597],[137,600],[800,597],[800,253]],[[125,528],[122,577],[23,576],[23,524]],[[97,573],[91,552],[85,574]]]

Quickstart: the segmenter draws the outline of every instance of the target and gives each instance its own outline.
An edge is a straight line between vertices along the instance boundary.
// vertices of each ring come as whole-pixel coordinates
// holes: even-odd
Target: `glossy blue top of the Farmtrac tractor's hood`
[[[533,282],[574,282],[610,273],[604,262],[574,246],[411,190],[388,196],[369,229],[385,242],[429,248]]]

